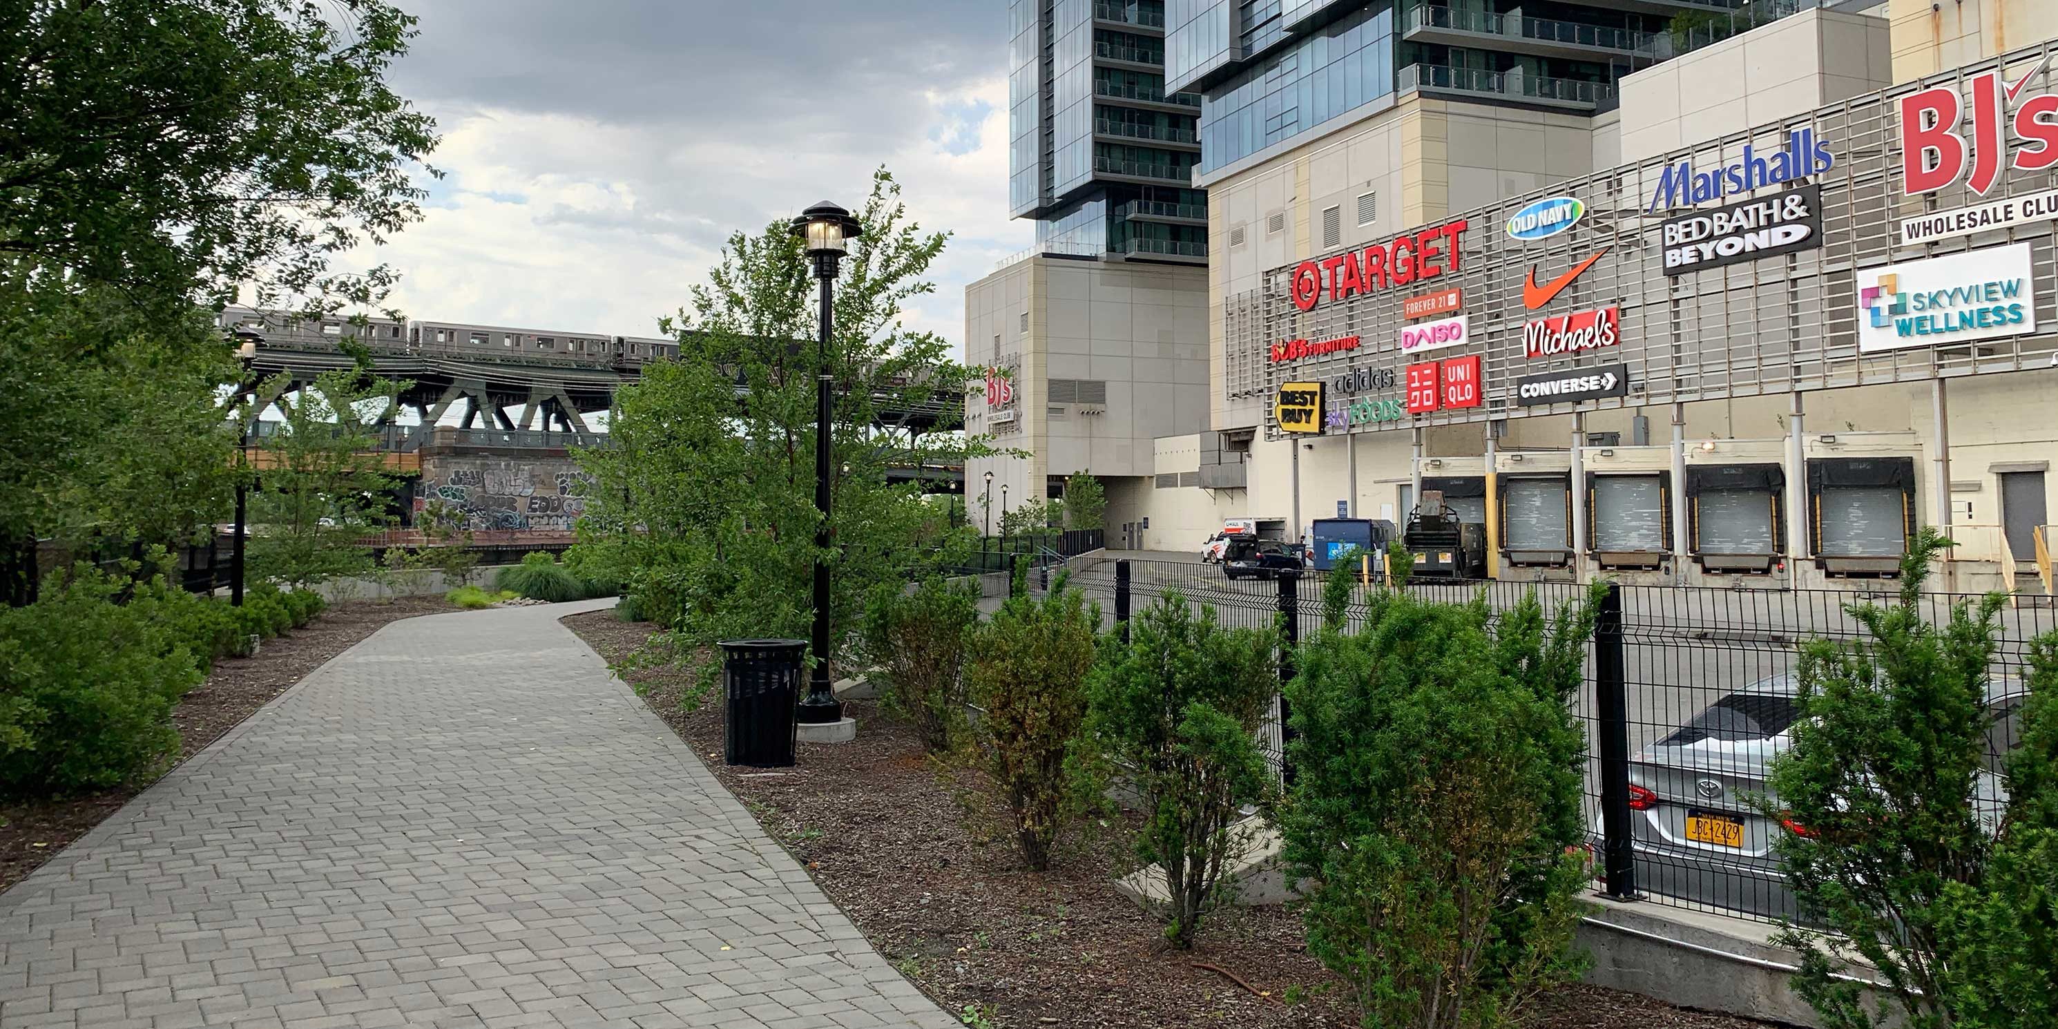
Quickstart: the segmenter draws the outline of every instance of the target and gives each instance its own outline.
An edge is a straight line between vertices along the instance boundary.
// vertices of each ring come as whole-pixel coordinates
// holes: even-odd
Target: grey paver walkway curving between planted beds
[[[0,895],[0,1025],[957,1025],[537,605],[395,622]]]

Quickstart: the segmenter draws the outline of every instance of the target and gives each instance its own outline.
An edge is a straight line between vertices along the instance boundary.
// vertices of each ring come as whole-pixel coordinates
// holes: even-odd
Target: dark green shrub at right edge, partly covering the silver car
[[[1803,955],[1795,990],[1832,1029],[1875,1025],[1844,978],[1854,955],[1885,973],[1910,1027],[2058,1025],[2058,634],[2031,646],[1998,788],[1988,731],[2007,712],[1988,708],[1988,663],[2007,597],[1930,624],[1922,584],[1949,545],[1924,529],[1900,603],[1852,603],[1865,636],[1803,646],[1801,716],[1762,801],[1805,827],[1774,848],[1830,932],[1788,928],[1782,943]]]

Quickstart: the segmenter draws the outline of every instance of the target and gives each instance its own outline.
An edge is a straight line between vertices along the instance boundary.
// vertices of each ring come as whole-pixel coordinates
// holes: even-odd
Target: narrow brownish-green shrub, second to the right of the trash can
[[[1080,743],[1099,624],[1099,607],[1087,607],[1060,578],[1041,601],[1008,597],[975,636],[967,675],[980,706],[982,757],[1033,871],[1050,868],[1052,842],[1089,792]]]

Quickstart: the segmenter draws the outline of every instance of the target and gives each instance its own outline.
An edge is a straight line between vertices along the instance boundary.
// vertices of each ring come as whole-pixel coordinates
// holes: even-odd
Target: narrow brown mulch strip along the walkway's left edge
[[[171,710],[171,720],[183,737],[177,761],[200,753],[307,673],[381,626],[434,611],[455,611],[455,607],[442,597],[338,603],[329,605],[315,622],[265,640],[257,657],[218,661],[208,679]],[[136,782],[60,801],[0,805],[0,889],[27,879],[29,873],[148,786],[150,782]]]

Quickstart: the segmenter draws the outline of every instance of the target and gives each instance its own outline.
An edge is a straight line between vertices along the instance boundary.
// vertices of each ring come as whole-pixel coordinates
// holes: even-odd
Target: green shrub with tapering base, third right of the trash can
[[[1222,873],[1247,840],[1239,807],[1268,776],[1257,722],[1278,691],[1276,630],[1222,630],[1214,607],[1167,591],[1109,644],[1093,677],[1093,735],[1134,778],[1144,825],[1136,856],[1165,871],[1165,936],[1194,947],[1200,918],[1225,895]]]

